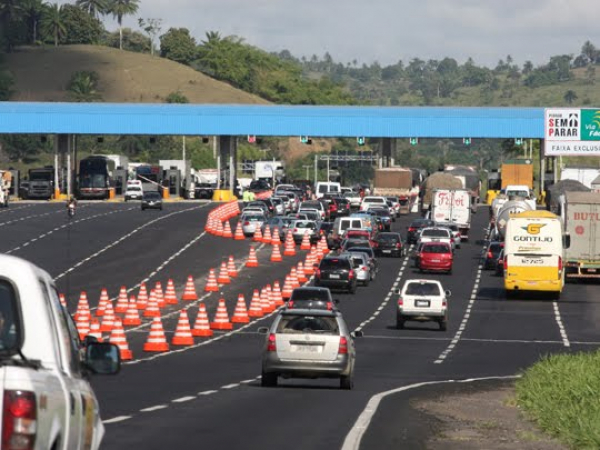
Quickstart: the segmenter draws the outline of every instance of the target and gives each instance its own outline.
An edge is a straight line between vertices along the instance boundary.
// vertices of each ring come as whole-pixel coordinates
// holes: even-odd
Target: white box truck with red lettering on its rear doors
[[[456,224],[461,240],[468,240],[471,228],[471,193],[467,189],[434,190],[430,218],[436,222]]]

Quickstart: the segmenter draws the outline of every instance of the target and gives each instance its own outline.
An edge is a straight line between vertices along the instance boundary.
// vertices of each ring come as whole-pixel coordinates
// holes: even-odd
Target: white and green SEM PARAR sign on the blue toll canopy
[[[600,109],[546,109],[546,156],[600,155]]]

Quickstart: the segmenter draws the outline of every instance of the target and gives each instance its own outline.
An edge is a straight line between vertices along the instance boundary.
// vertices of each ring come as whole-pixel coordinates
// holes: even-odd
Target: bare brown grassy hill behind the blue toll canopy
[[[71,76],[87,70],[98,74],[103,102],[164,103],[179,91],[190,103],[269,103],[166,58],[111,47],[22,47],[5,65],[15,78],[13,101],[67,101]]]

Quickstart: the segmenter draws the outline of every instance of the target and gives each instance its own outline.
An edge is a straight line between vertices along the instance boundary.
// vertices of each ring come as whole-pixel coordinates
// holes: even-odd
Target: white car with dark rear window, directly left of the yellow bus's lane
[[[435,321],[440,330],[448,328],[448,298],[452,295],[445,291],[437,280],[406,280],[398,291],[396,308],[396,328],[404,328],[408,320]]]

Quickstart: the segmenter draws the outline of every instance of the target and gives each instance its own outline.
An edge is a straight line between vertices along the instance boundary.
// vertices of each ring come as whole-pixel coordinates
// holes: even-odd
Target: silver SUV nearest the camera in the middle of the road
[[[270,328],[262,353],[261,384],[283,378],[339,378],[341,389],[354,385],[354,338],[338,311],[284,309]]]

